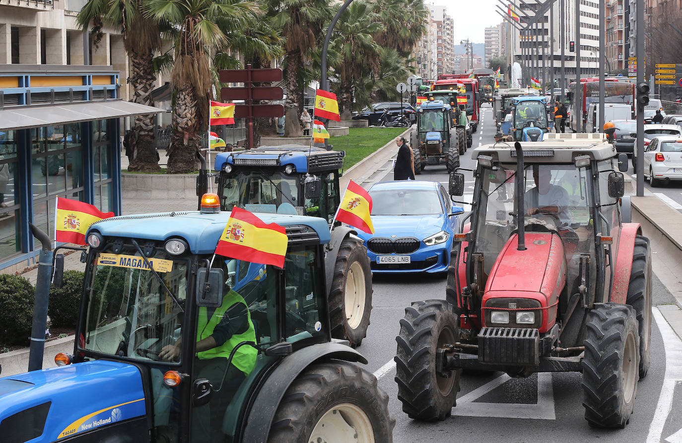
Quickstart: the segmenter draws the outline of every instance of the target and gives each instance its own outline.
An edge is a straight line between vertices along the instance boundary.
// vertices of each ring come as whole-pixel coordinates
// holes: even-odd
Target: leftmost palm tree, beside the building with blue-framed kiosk
[[[153,106],[151,91],[156,76],[153,57],[161,48],[158,22],[143,16],[144,0],[89,0],[78,12],[76,21],[80,29],[93,24],[98,32],[102,24],[118,29],[123,35],[123,46],[130,59],[128,83],[132,87],[132,102]],[[154,145],[154,116],[138,115],[134,119],[132,137],[131,171],[158,171]]]

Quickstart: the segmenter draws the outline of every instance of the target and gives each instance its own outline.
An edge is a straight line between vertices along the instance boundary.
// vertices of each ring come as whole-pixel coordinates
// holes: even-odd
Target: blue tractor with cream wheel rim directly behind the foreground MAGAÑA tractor
[[[352,347],[367,334],[372,311],[372,270],[367,248],[351,227],[333,222],[340,204],[339,177],[344,152],[321,147],[282,145],[216,155],[218,195],[224,211],[238,206],[251,212],[299,214],[327,220],[325,269],[331,335]],[[207,189],[198,177],[197,195]],[[314,190],[313,194],[308,190]]]

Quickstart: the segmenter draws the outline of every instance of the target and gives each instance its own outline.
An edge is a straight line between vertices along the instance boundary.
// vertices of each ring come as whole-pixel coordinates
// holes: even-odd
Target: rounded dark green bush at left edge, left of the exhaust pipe
[[[35,288],[26,278],[0,274],[0,343],[28,345]]]

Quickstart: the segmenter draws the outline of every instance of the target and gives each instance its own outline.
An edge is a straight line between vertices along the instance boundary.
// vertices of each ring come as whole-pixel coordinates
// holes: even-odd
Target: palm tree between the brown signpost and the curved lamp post
[[[275,17],[275,26],[281,29],[282,36],[286,38],[284,137],[300,137],[297,97],[306,85],[299,83],[297,74],[299,67],[310,61],[308,53],[317,46],[323,27],[331,16],[329,0],[271,0],[270,9]]]

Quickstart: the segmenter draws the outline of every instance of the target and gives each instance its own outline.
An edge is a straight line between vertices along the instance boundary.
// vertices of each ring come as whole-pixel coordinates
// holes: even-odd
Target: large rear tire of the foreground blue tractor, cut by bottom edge
[[[396,420],[376,377],[342,360],[310,365],[284,393],[267,441],[393,442]]]

